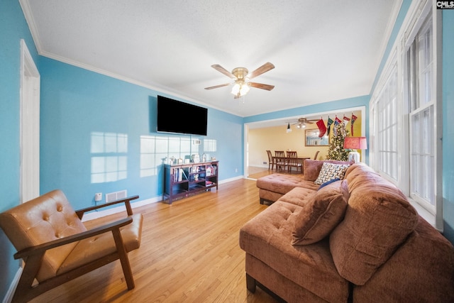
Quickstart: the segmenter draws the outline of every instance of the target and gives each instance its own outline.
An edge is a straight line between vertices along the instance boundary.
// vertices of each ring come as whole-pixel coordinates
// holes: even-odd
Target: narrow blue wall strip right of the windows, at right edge
[[[454,11],[443,11],[443,219],[454,243]]]

